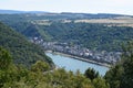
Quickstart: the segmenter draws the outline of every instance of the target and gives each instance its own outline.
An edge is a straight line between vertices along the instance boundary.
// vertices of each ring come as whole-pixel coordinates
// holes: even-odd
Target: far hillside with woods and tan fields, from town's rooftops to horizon
[[[98,51],[121,51],[133,38],[133,18],[122,14],[0,14],[0,21],[30,37],[68,42]]]

